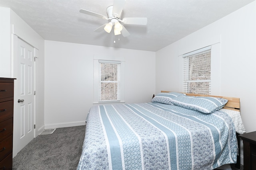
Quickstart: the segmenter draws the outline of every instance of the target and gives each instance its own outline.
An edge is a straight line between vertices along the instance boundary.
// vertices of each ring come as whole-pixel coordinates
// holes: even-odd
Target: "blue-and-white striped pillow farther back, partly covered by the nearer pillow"
[[[178,96],[184,96],[186,94],[178,93],[178,92],[168,92],[168,93],[159,93],[154,98],[152,98],[151,102],[158,102],[163,104],[172,104],[172,99],[178,97]]]

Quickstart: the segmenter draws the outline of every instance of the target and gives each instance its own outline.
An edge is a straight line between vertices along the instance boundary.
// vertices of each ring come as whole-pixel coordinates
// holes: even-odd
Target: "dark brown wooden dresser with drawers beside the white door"
[[[0,170],[12,169],[14,78],[0,78]]]

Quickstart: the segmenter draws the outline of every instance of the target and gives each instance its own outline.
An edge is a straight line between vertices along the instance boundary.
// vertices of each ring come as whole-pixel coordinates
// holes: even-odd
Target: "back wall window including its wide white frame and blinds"
[[[124,102],[124,59],[94,57],[94,104]],[[118,61],[120,60],[120,61]]]

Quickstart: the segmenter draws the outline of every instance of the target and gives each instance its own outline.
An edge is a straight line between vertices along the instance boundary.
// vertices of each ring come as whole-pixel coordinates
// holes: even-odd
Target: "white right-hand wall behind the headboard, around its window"
[[[156,93],[160,90],[182,91],[182,63],[178,56],[219,41],[220,63],[213,65],[220,66],[219,92],[212,95],[240,98],[240,112],[246,131],[256,131],[255,11],[254,1],[157,51]]]

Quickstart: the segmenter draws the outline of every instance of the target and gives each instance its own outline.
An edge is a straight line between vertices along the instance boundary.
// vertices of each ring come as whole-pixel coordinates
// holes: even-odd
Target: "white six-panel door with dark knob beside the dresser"
[[[18,150],[34,138],[34,47],[18,38]],[[17,142],[17,141],[16,141]]]

